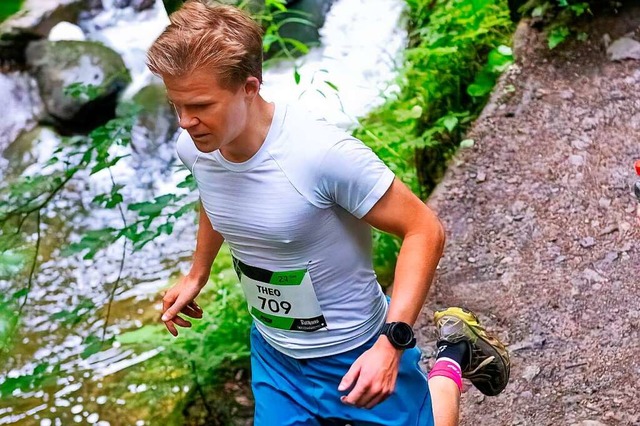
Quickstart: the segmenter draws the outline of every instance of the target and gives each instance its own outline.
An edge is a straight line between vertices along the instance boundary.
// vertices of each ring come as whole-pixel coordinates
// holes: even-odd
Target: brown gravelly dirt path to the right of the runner
[[[627,10],[550,52],[521,24],[518,67],[429,201],[448,242],[423,347],[433,310],[463,305],[512,353],[502,395],[464,394],[464,425],[640,425],[640,61],[602,42],[639,28]]]

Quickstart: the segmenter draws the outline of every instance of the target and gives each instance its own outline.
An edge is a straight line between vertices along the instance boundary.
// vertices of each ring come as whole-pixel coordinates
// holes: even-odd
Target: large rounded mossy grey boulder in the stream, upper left
[[[50,117],[72,131],[113,118],[118,94],[131,82],[122,58],[96,42],[40,40],[29,44],[26,58]],[[65,94],[72,83],[91,85],[95,96]]]

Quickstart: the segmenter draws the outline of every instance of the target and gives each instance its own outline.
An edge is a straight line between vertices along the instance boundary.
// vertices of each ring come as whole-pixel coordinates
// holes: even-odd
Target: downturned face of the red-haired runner
[[[209,70],[183,77],[164,76],[167,96],[178,114],[180,127],[202,152],[212,152],[235,141],[247,126],[253,93],[248,84],[223,89]]]

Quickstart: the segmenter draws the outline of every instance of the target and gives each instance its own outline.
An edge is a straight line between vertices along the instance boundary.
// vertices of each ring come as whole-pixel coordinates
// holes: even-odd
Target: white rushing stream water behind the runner
[[[105,11],[83,22],[82,27],[88,39],[100,40],[123,56],[134,77],[127,89],[131,95],[154,78],[146,72],[144,53],[167,17],[160,0],[154,9],[142,13],[116,10],[108,0],[104,3]],[[406,43],[402,10],[401,0],[335,1],[320,31],[321,46],[295,62],[299,84],[294,81],[294,64],[280,63],[265,72],[264,97],[299,104],[344,128],[354,126],[358,117],[394,90],[395,61]],[[33,173],[50,157],[55,145],[56,137],[45,131],[37,147],[5,152],[9,160],[5,158],[0,167],[6,169],[11,164],[16,168],[24,163],[17,168]],[[25,377],[44,381],[36,380],[34,391],[15,390],[3,397],[0,425],[163,424],[160,419],[189,390],[186,381],[176,378],[176,366],[147,368],[145,361],[160,353],[161,347],[136,353],[116,343],[86,359],[79,356],[86,349],[87,336],[102,335],[106,305],[120,275],[123,247],[116,245],[93,260],[83,260],[62,256],[58,242],[78,241],[89,229],[122,225],[117,211],[96,209],[91,204],[96,194],[110,188],[112,178],[125,185],[127,200],[148,201],[175,193],[185,171],[178,166],[168,141],[151,157],[121,160],[112,174],[104,171],[74,179],[43,214],[41,257],[17,344],[0,365],[0,386]],[[171,236],[158,238],[135,253],[127,249],[107,337],[158,321],[158,294],[172,277],[189,267],[195,229],[191,215],[176,225]],[[31,238],[34,243],[35,238]],[[10,294],[26,285],[23,278],[0,281],[0,291]],[[81,321],[76,324],[75,318]],[[51,371],[55,365],[60,365],[59,372]],[[43,374],[38,374],[39,368]]]

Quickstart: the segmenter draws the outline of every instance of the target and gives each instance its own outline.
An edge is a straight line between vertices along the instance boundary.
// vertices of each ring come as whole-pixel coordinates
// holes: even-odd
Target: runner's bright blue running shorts
[[[433,426],[427,377],[420,350],[402,355],[396,389],[370,410],[343,404],[338,384],[355,360],[378,339],[337,355],[295,359],[270,346],[251,329],[251,369],[256,400],[254,426]]]

